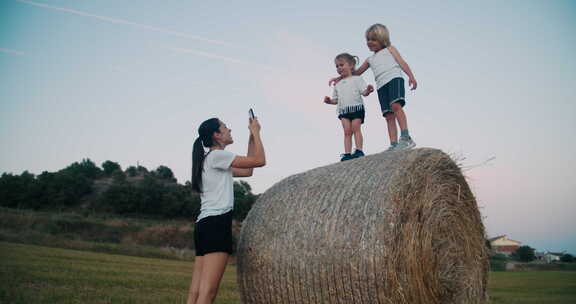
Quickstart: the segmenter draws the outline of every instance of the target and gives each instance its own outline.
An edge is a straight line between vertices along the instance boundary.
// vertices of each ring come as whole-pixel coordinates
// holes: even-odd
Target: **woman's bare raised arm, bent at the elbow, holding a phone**
[[[257,119],[250,121],[249,129],[251,134],[248,141],[248,154],[238,155],[232,161],[232,174],[235,177],[252,176],[254,168],[266,165],[266,155],[260,138],[260,124]]]

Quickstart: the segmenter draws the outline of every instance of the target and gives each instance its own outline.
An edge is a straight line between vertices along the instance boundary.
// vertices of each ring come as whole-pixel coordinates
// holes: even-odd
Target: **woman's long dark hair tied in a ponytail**
[[[202,171],[204,169],[204,147],[210,148],[214,145],[212,135],[220,132],[220,120],[210,118],[198,127],[198,138],[194,141],[192,148],[192,190],[202,193]]]

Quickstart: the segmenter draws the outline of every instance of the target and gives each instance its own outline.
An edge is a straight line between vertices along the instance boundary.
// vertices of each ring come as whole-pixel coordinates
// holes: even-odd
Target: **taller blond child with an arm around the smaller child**
[[[404,105],[406,105],[406,98],[402,71],[408,75],[408,84],[411,90],[416,89],[416,78],[408,63],[391,45],[390,33],[386,26],[382,24],[370,26],[366,30],[366,44],[368,49],[374,52],[374,55],[368,57],[353,74],[362,75],[368,68],[372,68],[372,72],[374,72],[378,86],[378,100],[382,115],[386,118],[388,136],[390,137],[390,147],[387,151],[413,148],[416,143],[408,132],[408,121],[403,110]],[[341,79],[343,79],[342,76],[333,78],[329,84],[337,83]],[[400,125],[400,141],[398,141],[396,121]]]

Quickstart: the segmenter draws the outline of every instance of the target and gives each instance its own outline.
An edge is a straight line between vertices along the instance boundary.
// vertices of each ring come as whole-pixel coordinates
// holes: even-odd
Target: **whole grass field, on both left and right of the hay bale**
[[[0,303],[185,303],[192,263],[0,242]],[[240,303],[229,265],[216,303]],[[576,272],[496,272],[491,303],[576,303]]]

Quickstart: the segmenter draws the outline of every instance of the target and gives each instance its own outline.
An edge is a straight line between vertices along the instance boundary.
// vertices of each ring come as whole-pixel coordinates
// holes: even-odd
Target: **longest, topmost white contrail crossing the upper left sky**
[[[85,16],[85,17],[91,17],[91,18],[96,18],[96,19],[103,20],[103,21],[107,21],[107,22],[110,22],[110,23],[130,25],[130,26],[133,26],[133,27],[137,27],[137,28],[141,28],[141,29],[145,29],[145,30],[149,30],[149,31],[153,31],[153,32],[160,32],[160,33],[164,33],[164,34],[168,34],[168,35],[172,35],[172,36],[176,36],[176,37],[182,37],[182,38],[200,40],[200,41],[209,42],[209,43],[214,43],[214,44],[220,44],[220,45],[237,47],[237,46],[234,46],[234,45],[232,45],[232,44],[230,44],[230,43],[227,43],[227,42],[224,42],[224,41],[213,40],[213,39],[208,39],[208,38],[204,38],[204,37],[200,37],[200,36],[190,35],[190,34],[186,34],[186,33],[182,33],[182,32],[177,32],[177,31],[173,31],[173,30],[170,30],[170,29],[161,28],[161,27],[157,27],[157,26],[151,26],[151,25],[146,25],[146,24],[131,22],[131,21],[122,20],[122,19],[117,19],[117,18],[111,18],[111,17],[106,17],[106,16],[94,15],[94,14],[91,14],[91,13],[88,13],[88,12],[84,12],[84,11],[69,9],[69,8],[65,8],[65,7],[58,7],[58,6],[49,5],[49,4],[44,4],[44,3],[38,3],[38,2],[34,2],[34,1],[28,1],[28,0],[16,0],[16,1],[17,1],[17,2],[21,2],[21,3],[26,3],[26,4],[29,4],[29,5],[34,5],[34,6],[38,6],[38,7],[47,8],[47,9],[53,9],[53,10],[58,10],[58,11],[62,11],[62,12],[67,12],[67,13],[70,13],[70,14],[75,14],[75,15],[80,15],[80,16]]]

